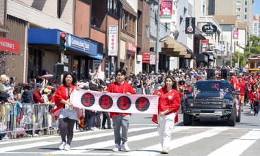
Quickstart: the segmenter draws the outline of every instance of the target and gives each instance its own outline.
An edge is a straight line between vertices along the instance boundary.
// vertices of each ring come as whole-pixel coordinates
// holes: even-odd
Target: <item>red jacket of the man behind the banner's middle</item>
[[[107,92],[114,92],[114,93],[121,93],[121,94],[130,92],[131,94],[136,94],[135,90],[133,90],[133,87],[126,81],[122,84],[118,84],[117,81],[112,83],[111,85],[109,85],[107,87]],[[113,116],[118,116],[118,115],[119,115],[119,113],[110,112],[110,118],[112,118]],[[122,116],[126,116],[126,115],[131,115],[131,114],[122,113]]]

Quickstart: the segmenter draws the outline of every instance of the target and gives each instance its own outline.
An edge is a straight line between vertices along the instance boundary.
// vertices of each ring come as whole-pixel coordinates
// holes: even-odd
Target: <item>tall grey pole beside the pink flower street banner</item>
[[[160,29],[160,3],[161,0],[158,1],[158,8],[157,8],[157,29],[156,29],[156,57],[155,57],[155,73],[158,73],[159,68],[159,29]]]

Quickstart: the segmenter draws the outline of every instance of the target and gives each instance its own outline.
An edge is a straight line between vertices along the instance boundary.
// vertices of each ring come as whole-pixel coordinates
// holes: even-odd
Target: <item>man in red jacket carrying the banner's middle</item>
[[[135,91],[133,90],[133,87],[125,81],[126,74],[127,74],[126,71],[122,68],[116,70],[116,82],[109,85],[107,90],[104,92],[127,94],[127,96],[131,94],[136,94]],[[131,151],[127,144],[127,133],[128,133],[129,120],[131,118],[131,114],[110,112],[110,118],[112,118],[113,121],[114,138],[116,144],[116,147],[113,149],[113,151],[114,152]],[[122,135],[120,134],[121,127],[122,127]],[[120,145],[121,141],[122,141],[122,146]]]

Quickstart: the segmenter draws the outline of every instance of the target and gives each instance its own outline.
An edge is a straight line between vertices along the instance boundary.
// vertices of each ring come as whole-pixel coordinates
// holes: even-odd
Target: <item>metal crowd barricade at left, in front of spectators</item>
[[[20,107],[22,105],[22,107]],[[50,133],[57,128],[57,119],[51,114],[47,104],[17,103],[0,105],[0,137],[31,134],[36,131]]]

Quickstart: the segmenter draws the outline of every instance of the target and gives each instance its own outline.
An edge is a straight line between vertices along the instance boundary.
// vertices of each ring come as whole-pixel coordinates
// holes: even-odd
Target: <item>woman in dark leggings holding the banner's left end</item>
[[[73,128],[76,120],[81,117],[79,109],[74,108],[70,102],[70,94],[75,89],[76,78],[72,73],[66,73],[62,80],[62,86],[57,89],[54,96],[55,105],[57,108],[53,110],[55,116],[60,118],[60,135],[62,144],[60,150],[70,150],[70,143],[73,140]],[[68,130],[68,133],[66,132]],[[66,142],[67,135],[67,142]]]

